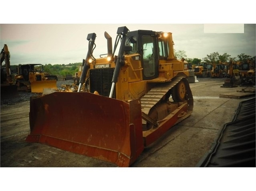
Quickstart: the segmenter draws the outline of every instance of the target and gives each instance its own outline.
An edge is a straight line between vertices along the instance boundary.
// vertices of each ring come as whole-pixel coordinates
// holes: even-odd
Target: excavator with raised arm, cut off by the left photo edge
[[[10,69],[10,52],[6,44],[4,44],[0,55],[1,98],[4,96],[15,96],[18,93],[18,89],[17,86],[14,85],[13,75]],[[3,62],[5,62],[5,67],[2,65]]]

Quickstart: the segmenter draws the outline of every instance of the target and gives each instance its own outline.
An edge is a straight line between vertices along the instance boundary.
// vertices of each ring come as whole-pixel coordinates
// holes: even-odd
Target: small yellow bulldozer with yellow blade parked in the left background
[[[18,91],[42,93],[44,88],[57,89],[57,76],[45,73],[42,64],[20,64],[17,71],[14,78]]]

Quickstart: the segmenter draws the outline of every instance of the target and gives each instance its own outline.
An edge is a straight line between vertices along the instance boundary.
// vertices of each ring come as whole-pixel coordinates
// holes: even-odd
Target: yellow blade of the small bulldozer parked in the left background
[[[44,88],[57,89],[56,80],[42,80],[42,81],[32,81],[31,82],[31,92],[32,93],[42,93]]]

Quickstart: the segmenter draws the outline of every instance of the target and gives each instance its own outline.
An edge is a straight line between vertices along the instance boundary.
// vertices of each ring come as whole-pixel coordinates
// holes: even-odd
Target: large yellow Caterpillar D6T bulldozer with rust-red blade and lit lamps
[[[30,98],[26,142],[129,167],[147,146],[191,114],[188,63],[176,59],[170,32],[119,27],[114,49],[107,32],[105,38],[108,53],[96,59],[96,34],[88,34],[77,92]],[[81,91],[83,84],[88,91]],[[64,104],[67,100],[72,104]]]

